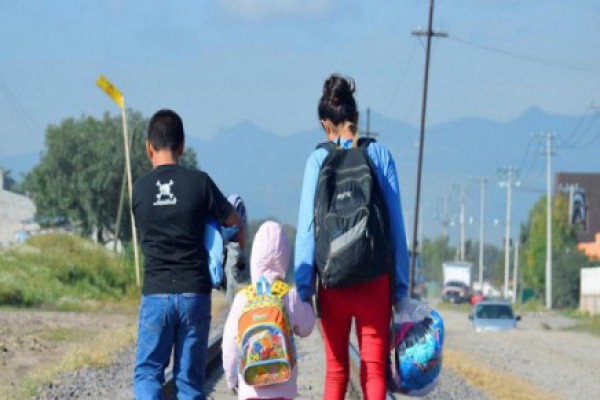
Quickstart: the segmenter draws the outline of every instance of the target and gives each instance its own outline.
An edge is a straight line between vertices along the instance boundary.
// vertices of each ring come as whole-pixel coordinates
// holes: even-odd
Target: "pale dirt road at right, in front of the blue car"
[[[562,330],[573,324],[571,320],[552,313],[524,315],[517,330],[476,333],[467,314],[441,313],[446,348],[456,351],[458,358],[466,355],[501,373],[506,382],[526,381],[538,391],[538,398],[600,398],[600,338]]]

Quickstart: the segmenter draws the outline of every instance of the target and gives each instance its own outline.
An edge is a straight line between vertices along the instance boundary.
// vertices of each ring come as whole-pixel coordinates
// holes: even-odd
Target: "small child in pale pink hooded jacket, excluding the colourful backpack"
[[[291,261],[291,246],[283,227],[273,221],[267,221],[259,228],[254,237],[250,262],[252,284],[266,279],[271,285],[283,281]],[[298,297],[296,289],[291,288],[283,296],[289,326],[300,337],[310,335],[315,325],[315,317],[309,303]],[[298,367],[294,363],[289,380],[267,386],[252,386],[245,383],[240,374],[240,349],[238,347],[238,321],[248,304],[247,291],[238,292],[231,306],[225,331],[223,333],[223,369],[227,385],[238,393],[240,400],[249,399],[292,399],[298,396],[296,379]]]

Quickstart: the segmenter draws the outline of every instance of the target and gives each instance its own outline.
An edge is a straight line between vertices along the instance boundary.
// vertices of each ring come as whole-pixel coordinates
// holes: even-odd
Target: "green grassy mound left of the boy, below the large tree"
[[[89,310],[135,292],[133,265],[65,234],[31,237],[0,252],[0,305]]]

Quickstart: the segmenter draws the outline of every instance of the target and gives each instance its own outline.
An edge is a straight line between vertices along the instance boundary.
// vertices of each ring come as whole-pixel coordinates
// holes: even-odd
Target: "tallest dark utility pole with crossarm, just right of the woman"
[[[423,170],[423,147],[425,142],[425,115],[427,112],[427,89],[429,86],[429,58],[431,56],[431,38],[433,36],[447,37],[448,34],[443,32],[433,32],[433,7],[434,0],[429,0],[429,18],[427,23],[427,31],[413,31],[415,36],[427,36],[427,47],[425,48],[425,74],[423,77],[423,101],[421,104],[421,131],[419,135],[419,163],[417,166],[417,190],[415,196],[415,214],[413,224],[412,248],[417,248],[417,230],[419,225],[419,202],[421,200],[421,175]],[[415,276],[415,257],[410,259],[410,279],[408,282],[408,294],[413,296],[414,276]]]

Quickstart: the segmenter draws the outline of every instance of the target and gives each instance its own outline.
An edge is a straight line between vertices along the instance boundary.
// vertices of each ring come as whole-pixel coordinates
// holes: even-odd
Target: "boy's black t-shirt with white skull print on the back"
[[[210,293],[204,247],[207,216],[233,211],[202,171],[161,165],[133,186],[133,213],[144,253],[143,294]]]

